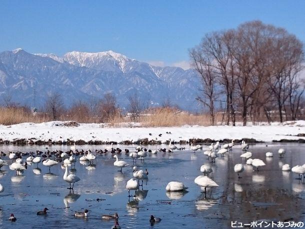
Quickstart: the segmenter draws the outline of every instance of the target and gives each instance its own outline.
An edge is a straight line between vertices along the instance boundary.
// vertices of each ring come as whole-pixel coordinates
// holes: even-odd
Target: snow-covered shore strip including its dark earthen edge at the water
[[[305,121],[273,122],[249,126],[141,127],[139,123],[119,123],[108,127],[105,123],[76,123],[50,121],[0,125],[0,144],[180,144],[230,142],[245,140],[258,142],[305,143]]]

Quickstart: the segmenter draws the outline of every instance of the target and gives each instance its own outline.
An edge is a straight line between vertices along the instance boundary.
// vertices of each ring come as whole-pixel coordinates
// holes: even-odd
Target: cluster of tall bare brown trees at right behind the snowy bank
[[[189,52],[202,78],[202,96],[214,124],[215,104],[225,102],[225,121],[297,118],[304,82],[302,43],[283,28],[250,21],[236,29],[206,34]]]

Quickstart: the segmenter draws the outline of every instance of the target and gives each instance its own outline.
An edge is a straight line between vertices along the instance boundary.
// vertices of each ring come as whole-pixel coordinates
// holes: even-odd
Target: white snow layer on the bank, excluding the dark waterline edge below
[[[32,139],[33,141],[136,141],[148,138],[148,140],[165,141],[171,138],[174,141],[190,138],[210,138],[213,140],[254,138],[257,141],[270,142],[272,140],[297,140],[304,136],[296,136],[305,133],[305,121],[289,121],[271,123],[270,125],[252,126],[190,126],[180,127],[104,127],[102,124],[81,123],[79,126],[64,126],[62,121],[50,121],[42,123],[20,123],[15,125],[0,125],[0,139],[2,141],[15,141],[17,139]],[[129,126],[136,126],[129,123]],[[171,132],[171,134],[167,134]],[[151,133],[151,135],[149,135]],[[162,134],[159,136],[159,134]]]

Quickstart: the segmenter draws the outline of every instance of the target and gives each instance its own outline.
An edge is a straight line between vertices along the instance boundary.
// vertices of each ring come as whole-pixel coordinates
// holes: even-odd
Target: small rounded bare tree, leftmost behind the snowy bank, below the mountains
[[[45,101],[45,109],[48,113],[50,113],[53,120],[57,120],[60,111],[63,109],[63,101],[58,92],[52,92],[49,96],[47,96]]]

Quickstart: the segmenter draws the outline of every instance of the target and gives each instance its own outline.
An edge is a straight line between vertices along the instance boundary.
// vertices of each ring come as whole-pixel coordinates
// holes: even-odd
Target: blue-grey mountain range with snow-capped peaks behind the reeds
[[[112,92],[120,107],[139,96],[154,105],[165,100],[195,110],[200,79],[193,69],[158,67],[113,52],[71,51],[63,56],[31,54],[21,48],[0,52],[0,95],[40,106],[48,94],[59,92],[66,105],[101,98]]]

